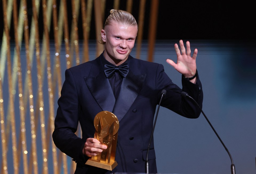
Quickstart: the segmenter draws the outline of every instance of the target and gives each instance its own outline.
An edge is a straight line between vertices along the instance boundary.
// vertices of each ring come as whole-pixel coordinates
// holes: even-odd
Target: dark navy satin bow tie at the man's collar
[[[119,72],[119,74],[121,76],[126,77],[126,75],[129,72],[129,67],[128,67],[128,65],[123,65],[121,67],[118,67],[118,66],[112,66],[109,64],[105,64],[104,72],[107,77],[111,76],[114,72]]]

